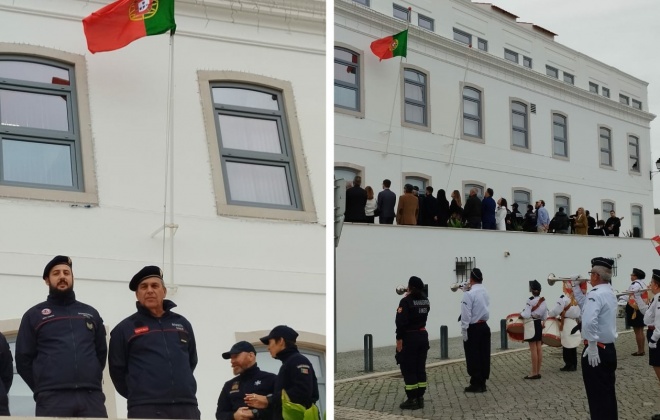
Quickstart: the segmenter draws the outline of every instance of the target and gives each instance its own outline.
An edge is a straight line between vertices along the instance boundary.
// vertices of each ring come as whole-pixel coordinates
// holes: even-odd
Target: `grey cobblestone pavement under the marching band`
[[[499,333],[494,334],[494,341],[497,341],[499,346]],[[526,344],[516,344],[517,349],[500,353],[497,353],[497,346],[493,346],[488,392],[469,394],[463,391],[469,383],[469,377],[465,359],[462,358],[462,354],[461,358],[457,357],[460,344],[456,340],[450,344],[449,354],[453,357],[451,360],[433,360],[434,357],[430,354],[425,407],[415,411],[399,409],[399,404],[405,400],[403,379],[396,365],[389,362],[389,359],[388,363],[391,363],[391,366],[386,366],[391,367],[389,371],[377,365],[374,355],[374,368],[379,366],[379,369],[375,369],[380,370],[379,372],[365,374],[365,372],[352,371],[351,374],[346,372],[346,365],[350,365],[349,356],[352,356],[354,365],[361,361],[360,369],[363,370],[362,352],[359,352],[360,358],[349,353],[338,354],[336,378],[339,379],[335,380],[334,418],[336,420],[589,418],[580,367],[577,372],[559,371],[563,366],[561,348],[544,346],[542,378],[527,381],[522,379],[530,369],[529,352],[524,347]],[[578,349],[579,352],[581,347]],[[630,355],[636,350],[632,330],[620,332],[616,349],[619,418],[621,420],[650,419],[653,414],[660,413],[660,384],[653,369],[648,365],[648,356]],[[382,351],[393,359],[393,347]],[[439,360],[439,353],[437,357]],[[385,360],[384,356],[383,360]]]

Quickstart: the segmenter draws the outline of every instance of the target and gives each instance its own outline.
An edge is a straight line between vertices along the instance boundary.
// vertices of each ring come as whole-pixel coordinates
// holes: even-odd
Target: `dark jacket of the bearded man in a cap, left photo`
[[[259,369],[255,363],[234,379],[227,381],[218,398],[216,420],[234,420],[234,412],[240,407],[247,407],[243,400],[246,394],[272,394],[276,377],[274,373]],[[259,410],[257,418],[269,419],[270,416],[270,410]]]

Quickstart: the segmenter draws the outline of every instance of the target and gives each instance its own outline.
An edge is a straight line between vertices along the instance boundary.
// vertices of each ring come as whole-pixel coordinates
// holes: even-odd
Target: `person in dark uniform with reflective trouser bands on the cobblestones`
[[[396,310],[396,357],[401,367],[406,387],[406,401],[401,409],[424,408],[426,392],[426,355],[429,351],[429,334],[426,318],[431,306],[424,294],[424,283],[416,276],[408,280],[407,295]]]

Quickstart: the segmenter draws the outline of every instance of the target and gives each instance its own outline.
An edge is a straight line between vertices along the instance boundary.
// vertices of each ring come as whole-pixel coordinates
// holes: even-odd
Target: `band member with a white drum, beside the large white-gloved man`
[[[562,372],[573,372],[577,370],[577,346],[580,344],[580,333],[571,334],[573,328],[580,319],[580,306],[573,296],[570,282],[564,281],[564,294],[559,296],[555,306],[548,311],[551,317],[560,317],[559,331],[561,332],[562,356],[564,367],[559,368]],[[587,282],[581,282],[582,293],[587,291]]]

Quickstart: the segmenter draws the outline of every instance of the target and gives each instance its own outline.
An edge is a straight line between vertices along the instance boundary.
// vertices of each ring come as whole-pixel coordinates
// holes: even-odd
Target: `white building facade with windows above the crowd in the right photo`
[[[369,45],[408,27],[407,57]],[[495,4],[335,2],[335,174],[494,190],[654,232],[647,83]]]

